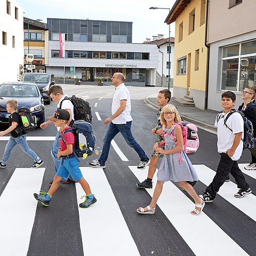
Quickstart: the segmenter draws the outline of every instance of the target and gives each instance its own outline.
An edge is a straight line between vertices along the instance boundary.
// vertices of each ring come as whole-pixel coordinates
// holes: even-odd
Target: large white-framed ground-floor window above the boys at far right
[[[243,91],[256,85],[256,41],[222,48],[221,90]]]

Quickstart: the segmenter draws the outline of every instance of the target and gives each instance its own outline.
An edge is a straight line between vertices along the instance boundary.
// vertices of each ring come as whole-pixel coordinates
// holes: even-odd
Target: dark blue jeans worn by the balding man
[[[147,155],[145,154],[145,151],[141,148],[139,143],[135,141],[135,139],[133,138],[131,126],[132,126],[132,121],[126,122],[126,124],[113,124],[112,122],[110,122],[108,131],[103,139],[103,142],[104,142],[103,149],[102,149],[101,156],[99,158],[100,164],[105,165],[108,159],[111,140],[114,139],[115,135],[118,132],[121,132],[127,144],[137,152],[141,161],[145,161],[147,159]]]

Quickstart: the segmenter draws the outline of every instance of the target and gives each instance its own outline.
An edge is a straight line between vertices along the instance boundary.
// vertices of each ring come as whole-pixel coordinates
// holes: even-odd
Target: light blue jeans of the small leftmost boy
[[[22,149],[22,151],[28,154],[34,161],[40,160],[40,157],[38,157],[37,154],[29,148],[26,138],[27,134],[21,135],[18,138],[10,137],[9,141],[5,146],[2,164],[6,164],[15,145],[18,145]]]

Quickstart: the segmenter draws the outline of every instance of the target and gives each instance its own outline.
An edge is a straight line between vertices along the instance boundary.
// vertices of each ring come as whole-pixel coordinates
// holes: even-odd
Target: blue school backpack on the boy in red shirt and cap
[[[83,120],[75,121],[72,129],[67,129],[62,133],[61,138],[65,143],[64,134],[66,132],[72,132],[75,135],[75,148],[73,152],[76,153],[77,157],[86,158],[93,154],[96,137],[93,135],[90,123]]]

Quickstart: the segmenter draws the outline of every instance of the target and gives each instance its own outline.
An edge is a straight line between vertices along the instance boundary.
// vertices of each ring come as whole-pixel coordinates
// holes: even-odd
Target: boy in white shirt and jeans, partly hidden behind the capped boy
[[[61,103],[61,109],[66,109],[68,113],[70,114],[70,118],[68,121],[68,125],[72,126],[74,122],[74,106],[70,100],[64,100],[65,97],[68,97],[68,95],[63,94],[62,87],[60,85],[53,85],[50,87],[48,94],[52,98],[53,101],[57,102],[57,108],[60,108]],[[47,121],[40,125],[42,129],[45,129],[48,125],[52,124],[53,121]],[[62,159],[57,157],[58,150],[60,148],[60,127],[57,127],[57,134],[55,137],[55,141],[53,142],[52,149],[51,149],[51,155],[54,162],[54,170],[55,172],[58,171],[59,166],[61,164]],[[67,180],[62,180],[61,183],[71,183],[74,182],[70,178]],[[50,182],[50,185],[52,182]]]

